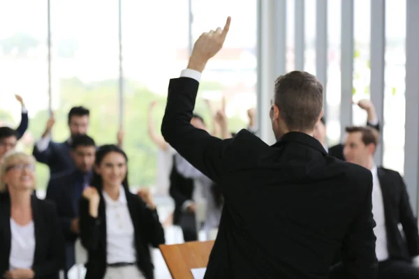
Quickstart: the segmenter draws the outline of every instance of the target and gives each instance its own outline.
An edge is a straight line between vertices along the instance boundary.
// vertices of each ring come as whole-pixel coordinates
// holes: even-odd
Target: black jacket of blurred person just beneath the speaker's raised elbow
[[[179,225],[180,216],[182,215],[182,204],[187,200],[192,199],[194,183],[193,179],[186,179],[177,172],[175,156],[173,156],[172,172],[170,172],[169,178],[169,194],[175,201],[173,224]]]

